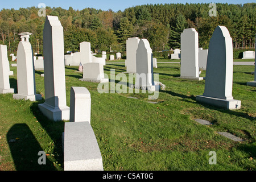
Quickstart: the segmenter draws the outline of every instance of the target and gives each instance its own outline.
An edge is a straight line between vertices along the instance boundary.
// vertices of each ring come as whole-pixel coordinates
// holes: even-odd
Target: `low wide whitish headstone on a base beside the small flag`
[[[81,81],[90,82],[109,82],[108,78],[104,77],[104,65],[101,63],[86,63],[83,65],[84,71]]]

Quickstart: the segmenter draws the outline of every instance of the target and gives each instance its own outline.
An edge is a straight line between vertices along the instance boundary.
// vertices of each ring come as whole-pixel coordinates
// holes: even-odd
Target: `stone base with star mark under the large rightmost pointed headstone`
[[[241,101],[238,101],[238,100],[224,100],[221,98],[196,96],[196,101],[217,106],[217,107],[222,107],[228,110],[241,109]]]

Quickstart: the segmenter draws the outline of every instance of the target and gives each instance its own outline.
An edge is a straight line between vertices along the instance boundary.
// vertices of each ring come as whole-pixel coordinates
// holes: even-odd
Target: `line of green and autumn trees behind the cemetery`
[[[138,36],[150,42],[153,51],[180,48],[184,28],[199,33],[199,47],[207,49],[214,29],[226,26],[234,48],[255,47],[256,3],[229,5],[216,3],[217,16],[209,16],[209,3],[155,4],[129,7],[114,12],[85,8],[68,10],[46,7],[46,15],[58,16],[64,28],[65,51],[79,51],[80,42],[90,42],[92,51],[125,51],[126,39]],[[31,32],[34,52],[43,53],[45,17],[38,7],[2,9],[0,11],[0,44],[16,52],[18,33]]]

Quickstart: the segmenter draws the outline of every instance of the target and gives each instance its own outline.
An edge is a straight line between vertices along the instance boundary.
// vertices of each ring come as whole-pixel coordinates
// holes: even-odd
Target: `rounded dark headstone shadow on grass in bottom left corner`
[[[39,151],[43,151],[34,134],[25,123],[15,124],[7,133],[7,141],[17,171],[56,170],[46,158],[46,165],[38,164]]]

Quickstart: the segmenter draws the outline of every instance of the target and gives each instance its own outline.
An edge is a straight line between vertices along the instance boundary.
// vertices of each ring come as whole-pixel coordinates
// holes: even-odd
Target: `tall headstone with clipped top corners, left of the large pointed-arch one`
[[[186,28],[181,33],[180,78],[203,80],[199,77],[198,33],[195,28]]]

